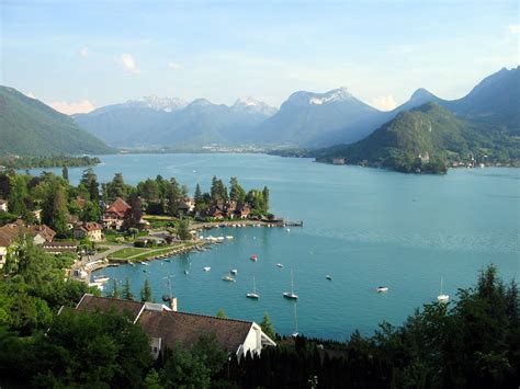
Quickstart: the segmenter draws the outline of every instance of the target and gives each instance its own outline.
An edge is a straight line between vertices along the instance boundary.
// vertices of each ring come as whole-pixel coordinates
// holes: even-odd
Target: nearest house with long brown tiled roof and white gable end
[[[109,311],[128,316],[139,323],[150,337],[155,358],[166,348],[177,344],[190,347],[203,334],[214,334],[218,344],[238,358],[247,352],[260,354],[265,346],[275,346],[260,325],[252,321],[219,319],[211,316],[178,312],[161,304],[137,302],[108,297],[83,295],[76,307],[78,311]]]

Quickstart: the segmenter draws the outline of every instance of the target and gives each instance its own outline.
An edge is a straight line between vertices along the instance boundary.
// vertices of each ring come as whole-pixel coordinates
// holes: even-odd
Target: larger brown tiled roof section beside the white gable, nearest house
[[[190,347],[202,334],[215,334],[218,344],[227,352],[236,353],[246,341],[252,322],[185,312],[145,310],[139,318],[139,324],[148,336],[160,337],[170,348],[177,343]]]

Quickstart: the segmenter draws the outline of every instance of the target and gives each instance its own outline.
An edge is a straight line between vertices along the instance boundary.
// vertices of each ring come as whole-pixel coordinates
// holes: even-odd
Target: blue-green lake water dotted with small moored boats
[[[132,184],[157,174],[174,176],[191,191],[196,183],[207,191],[214,174],[225,181],[237,176],[246,188],[268,185],[274,214],[304,220],[303,228],[290,232],[212,230],[205,234],[235,239],[170,263],[102,272],[129,277],[136,294],[148,278],[157,300],[167,293],[163,277],[171,275],[180,310],[215,314],[223,308],[228,317],[255,321],[268,311],[280,333],[292,333],[297,318],[301,333],[342,340],[355,329],[371,334],[382,320],[400,324],[415,308],[436,299],[441,276],[452,297],[457,288],[474,285],[478,271],[491,262],[504,279],[519,278],[518,169],[409,175],[263,155],[126,155],[102,160],[94,168],[102,182],[122,172]],[[69,169],[71,181],[81,172]],[[258,262],[249,260],[251,254]],[[204,266],[211,272],[203,272]],[[229,268],[238,270],[236,283],[221,279]],[[296,307],[282,297],[291,287],[291,268],[299,296]],[[328,274],[332,281],[326,279]],[[253,276],[258,301],[245,296]],[[388,286],[388,293],[375,293],[378,285]]]

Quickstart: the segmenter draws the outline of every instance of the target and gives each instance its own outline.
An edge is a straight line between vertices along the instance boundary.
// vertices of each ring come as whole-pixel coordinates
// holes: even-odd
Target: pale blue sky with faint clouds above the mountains
[[[391,110],[519,64],[518,1],[0,0],[0,84],[72,114],[146,95]]]

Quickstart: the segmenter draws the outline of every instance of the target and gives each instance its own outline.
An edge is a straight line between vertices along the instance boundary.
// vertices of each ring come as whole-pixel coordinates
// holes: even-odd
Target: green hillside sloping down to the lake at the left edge
[[[0,156],[108,153],[113,149],[72,118],[13,88],[0,87]]]

